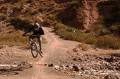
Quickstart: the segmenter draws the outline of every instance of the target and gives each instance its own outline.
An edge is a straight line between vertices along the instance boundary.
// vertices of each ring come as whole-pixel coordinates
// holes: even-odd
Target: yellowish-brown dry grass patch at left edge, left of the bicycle
[[[0,44],[1,45],[25,45],[27,44],[27,39],[24,38],[20,33],[14,32],[11,34],[0,34]]]

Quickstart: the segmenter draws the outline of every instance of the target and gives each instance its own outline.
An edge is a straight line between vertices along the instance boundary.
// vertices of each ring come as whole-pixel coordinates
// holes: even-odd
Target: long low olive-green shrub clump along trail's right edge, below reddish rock
[[[95,36],[92,33],[83,33],[79,29],[68,27],[61,23],[56,25],[55,32],[66,40],[74,40],[87,44],[94,44],[96,42]]]

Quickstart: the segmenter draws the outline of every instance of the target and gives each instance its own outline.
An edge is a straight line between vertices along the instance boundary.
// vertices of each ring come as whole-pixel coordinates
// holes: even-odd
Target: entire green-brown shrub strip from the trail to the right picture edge
[[[96,37],[94,33],[83,33],[79,29],[61,23],[56,25],[55,32],[66,40],[92,44],[99,48],[120,48],[120,39],[110,35]]]

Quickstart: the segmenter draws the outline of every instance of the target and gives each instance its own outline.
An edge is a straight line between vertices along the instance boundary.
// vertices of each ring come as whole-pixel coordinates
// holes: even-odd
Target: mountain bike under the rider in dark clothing
[[[33,58],[37,58],[38,54],[41,57],[43,57],[40,37],[37,35],[25,35],[25,36],[29,36],[28,40],[29,40],[30,49],[31,49],[31,53],[32,53]]]

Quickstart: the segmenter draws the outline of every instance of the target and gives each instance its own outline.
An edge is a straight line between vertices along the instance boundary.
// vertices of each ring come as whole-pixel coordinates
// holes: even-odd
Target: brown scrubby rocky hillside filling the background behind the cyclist
[[[58,34],[65,39],[90,44],[102,41],[104,44],[105,40],[110,38],[107,46],[111,42],[114,45],[113,41],[118,42],[119,38],[113,39],[113,35],[118,36],[120,33],[119,3],[119,0],[1,0],[0,26],[7,24],[6,26],[21,30],[42,14],[44,25],[55,28],[57,26]],[[106,34],[110,34],[110,37],[99,39],[95,36]]]

